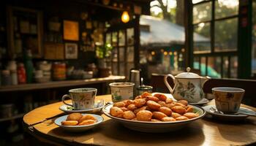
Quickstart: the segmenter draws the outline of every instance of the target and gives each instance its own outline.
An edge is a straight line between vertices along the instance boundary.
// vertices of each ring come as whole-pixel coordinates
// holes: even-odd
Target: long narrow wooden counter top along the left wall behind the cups
[[[92,78],[86,80],[63,80],[63,81],[52,81],[44,83],[31,83],[23,85],[7,85],[0,86],[1,92],[13,92],[13,91],[32,91],[37,89],[47,89],[47,88],[61,88],[75,85],[89,85],[102,82],[117,82],[124,80],[124,76],[110,76],[110,77],[101,77],[101,78]]]

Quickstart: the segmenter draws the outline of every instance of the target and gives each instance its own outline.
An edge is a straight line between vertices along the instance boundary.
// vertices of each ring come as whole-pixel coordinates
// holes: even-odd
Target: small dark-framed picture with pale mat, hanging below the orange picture
[[[65,58],[77,59],[78,58],[78,44],[65,43]]]

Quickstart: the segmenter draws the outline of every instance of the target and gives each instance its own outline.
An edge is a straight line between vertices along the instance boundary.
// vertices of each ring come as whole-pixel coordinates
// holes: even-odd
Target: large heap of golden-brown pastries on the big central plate
[[[176,121],[199,116],[186,100],[173,101],[165,95],[143,93],[134,100],[119,101],[110,108],[110,115],[127,120]]]

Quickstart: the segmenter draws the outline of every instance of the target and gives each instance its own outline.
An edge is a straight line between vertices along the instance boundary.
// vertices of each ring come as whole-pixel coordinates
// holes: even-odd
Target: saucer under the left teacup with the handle
[[[74,110],[73,107],[68,106],[66,104],[61,105],[59,107],[59,110],[62,110],[63,112],[86,112],[86,113],[95,113],[95,112],[100,112],[102,108],[104,107],[104,101],[99,101],[94,104],[94,107],[91,109],[86,109],[86,110]]]

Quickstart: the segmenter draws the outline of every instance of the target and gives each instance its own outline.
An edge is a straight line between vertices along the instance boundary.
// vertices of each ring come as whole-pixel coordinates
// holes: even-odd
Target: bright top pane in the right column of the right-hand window
[[[238,14],[239,0],[215,1],[215,18],[225,18]]]

